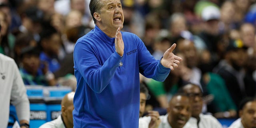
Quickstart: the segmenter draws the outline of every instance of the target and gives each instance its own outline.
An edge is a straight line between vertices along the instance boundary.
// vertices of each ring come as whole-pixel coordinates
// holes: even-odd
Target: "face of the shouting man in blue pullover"
[[[108,31],[116,31],[118,27],[123,28],[124,13],[120,0],[102,0],[99,17],[102,26]]]

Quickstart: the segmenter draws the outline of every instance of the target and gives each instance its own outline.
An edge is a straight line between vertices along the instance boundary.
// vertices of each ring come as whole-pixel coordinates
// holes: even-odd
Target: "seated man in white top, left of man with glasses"
[[[158,128],[193,128],[184,127],[191,116],[190,98],[185,94],[175,94],[169,102],[167,114],[160,116],[162,121]]]

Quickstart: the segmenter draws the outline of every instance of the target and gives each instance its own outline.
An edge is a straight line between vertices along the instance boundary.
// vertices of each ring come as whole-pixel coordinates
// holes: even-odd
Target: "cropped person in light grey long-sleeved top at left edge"
[[[3,54],[0,54],[0,83],[2,86],[0,90],[0,126],[6,128],[8,125],[11,103],[15,106],[20,127],[28,128],[30,121],[30,106],[25,85],[15,61]]]

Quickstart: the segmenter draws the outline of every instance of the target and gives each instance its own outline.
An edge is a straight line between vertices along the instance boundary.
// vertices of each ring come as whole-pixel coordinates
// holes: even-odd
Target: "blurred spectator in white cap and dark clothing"
[[[200,40],[194,40],[194,42],[196,44],[203,43],[206,46],[206,48],[200,53],[201,61],[198,66],[202,73],[205,73],[211,72],[220,59],[217,54],[217,44],[220,40],[220,10],[218,7],[213,5],[206,6],[202,9],[200,16],[203,20],[203,31],[198,34]]]

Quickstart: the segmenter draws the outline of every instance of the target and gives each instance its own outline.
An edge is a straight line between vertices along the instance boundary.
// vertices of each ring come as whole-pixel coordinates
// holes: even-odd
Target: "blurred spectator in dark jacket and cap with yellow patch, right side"
[[[225,81],[230,96],[236,104],[236,108],[238,108],[240,101],[247,95],[243,68],[247,61],[246,49],[242,42],[238,40],[230,41],[226,48],[225,58],[219,62],[213,71],[219,74]]]

